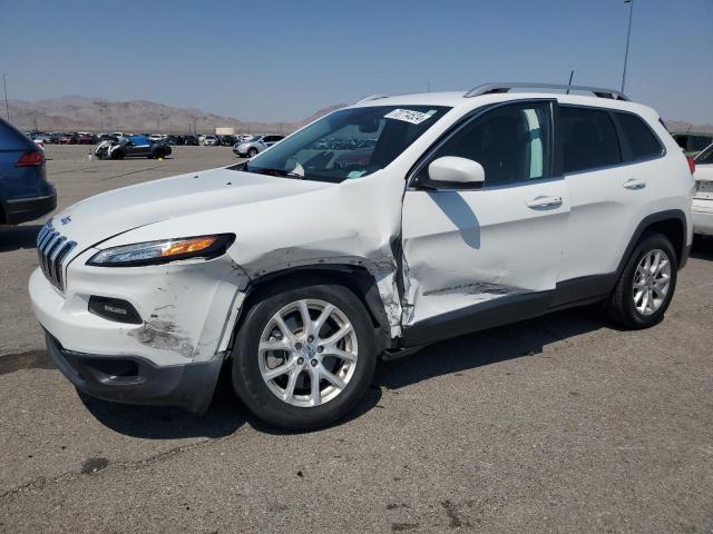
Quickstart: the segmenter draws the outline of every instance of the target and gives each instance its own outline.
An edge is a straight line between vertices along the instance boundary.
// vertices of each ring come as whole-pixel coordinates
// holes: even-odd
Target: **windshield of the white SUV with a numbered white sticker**
[[[449,109],[342,109],[246,161],[241,170],[330,182],[361,178],[388,166]]]

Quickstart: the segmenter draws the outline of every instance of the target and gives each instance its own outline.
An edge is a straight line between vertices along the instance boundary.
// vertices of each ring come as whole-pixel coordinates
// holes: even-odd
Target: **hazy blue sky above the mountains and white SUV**
[[[626,92],[713,123],[713,0],[634,0]],[[146,99],[290,121],[374,92],[621,86],[624,0],[0,0],[10,98]],[[0,88],[1,89],[1,88]]]

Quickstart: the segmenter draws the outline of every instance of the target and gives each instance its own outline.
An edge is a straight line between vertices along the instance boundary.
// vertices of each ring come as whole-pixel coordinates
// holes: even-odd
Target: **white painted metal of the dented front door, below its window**
[[[547,210],[529,208],[527,202],[538,196],[558,196],[563,204]],[[471,191],[407,191],[403,253],[410,269],[407,301],[413,307],[409,323],[507,294],[554,289],[568,214],[561,180]],[[447,290],[472,283],[510,289]]]

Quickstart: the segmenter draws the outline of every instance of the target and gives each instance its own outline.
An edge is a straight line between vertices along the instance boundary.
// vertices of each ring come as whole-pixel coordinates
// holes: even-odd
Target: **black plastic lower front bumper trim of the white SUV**
[[[223,359],[156,366],[139,356],[99,356],[65,349],[46,333],[47,353],[78,389],[126,404],[177,406],[203,415],[208,409]]]

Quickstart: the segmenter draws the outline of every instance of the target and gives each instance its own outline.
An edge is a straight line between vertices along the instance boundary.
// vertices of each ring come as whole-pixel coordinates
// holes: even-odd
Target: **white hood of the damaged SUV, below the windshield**
[[[104,192],[53,217],[55,228],[86,249],[160,220],[334,187],[225,168],[147,181]]]

